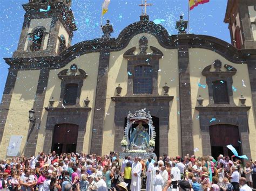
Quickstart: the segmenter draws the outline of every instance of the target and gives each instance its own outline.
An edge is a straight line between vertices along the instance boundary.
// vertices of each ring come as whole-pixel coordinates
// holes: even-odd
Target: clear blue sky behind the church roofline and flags
[[[74,33],[72,45],[80,41],[99,38],[100,12],[104,0],[73,0],[72,10],[75,15],[78,30]],[[169,34],[177,34],[175,29],[179,15],[188,18],[188,0],[147,0],[153,6],[147,8],[150,20],[164,19],[162,25]],[[2,58],[10,58],[17,49],[21,34],[23,15],[22,4],[29,0],[0,0],[0,100],[8,74],[8,65]],[[142,0],[111,0],[109,11],[104,15],[104,22],[110,19],[114,32],[118,34],[127,25],[137,22],[141,13],[138,6]],[[205,34],[220,38],[230,43],[228,25],[223,22],[227,0],[210,0],[209,3],[198,5],[190,11],[190,33]]]

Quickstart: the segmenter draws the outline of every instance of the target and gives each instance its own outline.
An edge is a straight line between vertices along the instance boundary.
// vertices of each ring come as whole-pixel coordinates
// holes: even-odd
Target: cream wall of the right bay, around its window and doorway
[[[251,109],[247,112],[248,126],[249,126],[249,138],[251,145],[252,158],[256,158],[256,150],[254,143],[256,141],[256,129],[255,129],[255,114],[253,114],[252,92],[250,86],[250,78],[248,74],[247,64],[237,64],[226,60],[223,56],[213,51],[202,48],[190,48],[190,80],[191,80],[191,101],[192,101],[192,117],[193,117],[193,134],[194,134],[194,147],[198,147],[199,151],[197,155],[202,155],[202,140],[199,124],[199,112],[195,109],[198,105],[197,98],[199,95],[204,98],[203,105],[206,106],[209,103],[208,86],[206,84],[206,77],[201,75],[202,70],[211,65],[214,60],[220,60],[225,64],[233,66],[237,69],[237,73],[233,76],[233,87],[237,91],[233,90],[234,103],[240,105],[239,98],[241,94],[246,98],[246,105],[251,106]],[[223,67],[224,68],[224,67]],[[214,68],[212,67],[212,70]],[[242,85],[244,80],[245,86]],[[206,88],[198,86],[198,83],[206,85]],[[218,119],[216,119],[218,121]],[[221,124],[223,122],[219,122]]]

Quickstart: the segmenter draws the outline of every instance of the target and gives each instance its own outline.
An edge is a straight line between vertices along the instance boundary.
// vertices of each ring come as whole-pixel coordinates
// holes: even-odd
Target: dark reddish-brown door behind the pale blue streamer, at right
[[[237,150],[238,154],[241,154],[240,137],[238,127],[228,124],[218,124],[210,126],[210,139],[211,139],[211,151],[212,157],[217,159],[219,154],[233,155],[233,153],[226,147],[226,145],[232,144]]]

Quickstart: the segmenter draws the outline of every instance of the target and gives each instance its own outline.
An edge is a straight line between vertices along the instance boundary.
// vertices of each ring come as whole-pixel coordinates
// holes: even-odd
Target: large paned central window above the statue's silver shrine
[[[152,66],[134,67],[133,94],[152,94]]]

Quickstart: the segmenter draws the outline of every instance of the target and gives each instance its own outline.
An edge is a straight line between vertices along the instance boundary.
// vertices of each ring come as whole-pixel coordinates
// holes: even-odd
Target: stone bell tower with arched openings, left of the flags
[[[71,0],[30,0],[13,57],[56,56],[71,46],[77,30]]]

